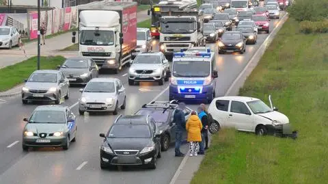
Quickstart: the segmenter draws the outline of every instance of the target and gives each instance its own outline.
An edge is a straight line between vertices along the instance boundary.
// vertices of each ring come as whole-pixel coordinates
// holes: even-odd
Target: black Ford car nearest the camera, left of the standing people
[[[147,115],[118,116],[105,133],[100,146],[100,168],[148,166],[156,168],[161,157],[161,135],[154,119]]]

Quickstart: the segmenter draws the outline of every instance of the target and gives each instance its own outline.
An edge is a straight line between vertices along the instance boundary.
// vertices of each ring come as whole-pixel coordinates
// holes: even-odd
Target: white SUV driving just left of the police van
[[[169,62],[163,53],[139,53],[128,70],[128,85],[134,85],[135,81],[154,81],[162,86],[169,75]]]

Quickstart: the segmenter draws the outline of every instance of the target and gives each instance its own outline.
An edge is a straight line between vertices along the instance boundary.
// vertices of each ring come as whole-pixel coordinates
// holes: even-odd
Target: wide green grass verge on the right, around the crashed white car
[[[193,184],[312,184],[328,180],[328,34],[299,33],[289,19],[240,95],[273,103],[299,131],[297,140],[223,130]]]

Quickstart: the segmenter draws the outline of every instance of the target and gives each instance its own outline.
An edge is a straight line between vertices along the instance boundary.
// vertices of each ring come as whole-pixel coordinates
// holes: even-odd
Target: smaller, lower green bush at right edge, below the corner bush
[[[299,24],[299,29],[303,34],[328,33],[328,19],[316,22],[302,21]]]

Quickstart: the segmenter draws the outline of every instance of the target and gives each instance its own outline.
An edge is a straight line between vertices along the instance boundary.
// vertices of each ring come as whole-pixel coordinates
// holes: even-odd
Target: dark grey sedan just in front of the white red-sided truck
[[[64,73],[70,84],[85,85],[92,78],[99,75],[98,66],[91,58],[68,58],[64,64],[57,66],[57,68]]]

